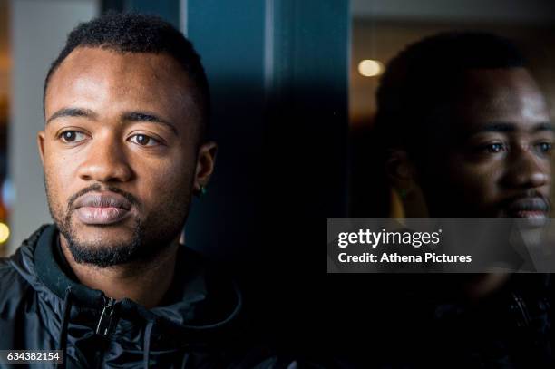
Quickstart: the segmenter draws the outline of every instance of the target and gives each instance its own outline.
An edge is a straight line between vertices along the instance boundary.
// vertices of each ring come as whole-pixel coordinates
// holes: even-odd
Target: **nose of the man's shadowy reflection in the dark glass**
[[[534,189],[550,183],[550,162],[532,148],[521,147],[507,158],[506,181],[512,188]]]

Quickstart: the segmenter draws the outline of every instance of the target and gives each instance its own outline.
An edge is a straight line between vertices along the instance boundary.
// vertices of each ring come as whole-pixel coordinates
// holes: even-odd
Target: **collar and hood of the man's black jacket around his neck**
[[[100,290],[84,286],[68,277],[56,261],[55,247],[58,229],[49,225],[39,229],[38,237],[24,243],[24,247],[32,248],[32,260],[28,260],[28,250],[23,250],[27,260],[25,264],[34,267],[34,274],[49,291],[63,300],[68,288],[71,288],[73,299],[79,306],[102,310],[108,298]],[[22,247],[22,248],[24,248]],[[33,250],[34,248],[34,250]],[[229,277],[219,273],[217,268],[205,263],[200,255],[185,246],[180,247],[176,263],[176,274],[170,286],[170,301],[166,306],[154,307],[150,310],[130,299],[120,302],[122,312],[127,311],[135,316],[143,316],[151,320],[167,321],[170,325],[210,331],[222,325],[228,325],[239,316],[242,308],[242,297],[239,287]],[[30,274],[33,274],[32,271]],[[44,289],[43,286],[38,286]],[[34,286],[35,289],[37,286]]]

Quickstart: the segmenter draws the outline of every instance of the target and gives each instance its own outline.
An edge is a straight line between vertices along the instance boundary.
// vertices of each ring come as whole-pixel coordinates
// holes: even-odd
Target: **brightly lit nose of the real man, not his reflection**
[[[89,145],[86,159],[78,170],[79,178],[102,183],[131,180],[132,170],[124,142],[119,141],[113,132],[99,134]]]

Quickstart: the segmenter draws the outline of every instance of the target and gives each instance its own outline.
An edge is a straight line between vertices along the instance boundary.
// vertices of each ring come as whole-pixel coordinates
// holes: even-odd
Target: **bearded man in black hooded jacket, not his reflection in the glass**
[[[63,350],[70,367],[237,364],[239,290],[179,243],[216,156],[190,42],[152,16],[80,24],[44,119],[54,225],[0,260],[0,349]]]

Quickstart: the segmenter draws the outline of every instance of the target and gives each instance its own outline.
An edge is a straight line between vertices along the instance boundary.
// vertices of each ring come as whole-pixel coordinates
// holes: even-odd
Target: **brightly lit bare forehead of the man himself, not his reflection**
[[[170,55],[78,47],[51,78],[44,101],[46,118],[76,105],[94,111],[120,105],[122,110],[175,113],[194,104],[192,91],[190,80]]]

